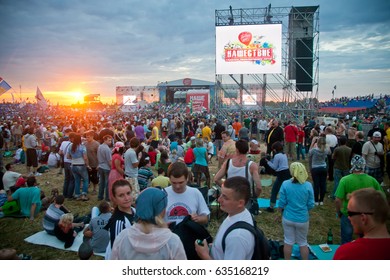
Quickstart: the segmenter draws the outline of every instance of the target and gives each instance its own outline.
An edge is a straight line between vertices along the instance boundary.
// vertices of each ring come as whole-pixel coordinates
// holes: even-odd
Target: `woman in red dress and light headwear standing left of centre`
[[[116,142],[111,154],[110,173],[108,175],[108,197],[112,200],[112,184],[119,179],[124,179],[125,160],[123,153],[125,151],[125,144],[123,142]]]

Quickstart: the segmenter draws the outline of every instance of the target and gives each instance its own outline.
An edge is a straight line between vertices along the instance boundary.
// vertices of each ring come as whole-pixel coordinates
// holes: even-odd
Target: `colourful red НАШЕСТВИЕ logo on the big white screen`
[[[275,46],[266,36],[243,31],[237,40],[224,46],[222,58],[225,62],[249,61],[258,65],[275,64]]]

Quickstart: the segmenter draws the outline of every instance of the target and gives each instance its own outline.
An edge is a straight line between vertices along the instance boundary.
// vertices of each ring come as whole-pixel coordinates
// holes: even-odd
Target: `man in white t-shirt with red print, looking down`
[[[188,167],[183,162],[175,162],[168,170],[171,186],[165,188],[168,194],[165,220],[167,223],[179,224],[183,219],[191,215],[191,219],[199,224],[207,224],[210,210],[202,193],[187,186]]]

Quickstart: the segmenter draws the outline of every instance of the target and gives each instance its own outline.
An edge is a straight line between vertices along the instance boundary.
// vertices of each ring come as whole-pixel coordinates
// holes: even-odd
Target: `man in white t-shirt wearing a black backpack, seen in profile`
[[[195,250],[203,260],[250,260],[253,255],[255,238],[247,229],[237,228],[227,234],[225,250],[222,239],[226,230],[239,221],[253,225],[253,218],[245,208],[250,197],[249,182],[241,176],[226,179],[221,189],[218,202],[221,210],[228,214],[215,236],[211,250],[206,240],[203,245],[195,244]]]

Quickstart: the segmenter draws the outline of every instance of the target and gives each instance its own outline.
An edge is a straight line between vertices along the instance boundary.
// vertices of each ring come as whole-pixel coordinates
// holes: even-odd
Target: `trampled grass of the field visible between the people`
[[[5,164],[10,162],[11,159],[5,158]],[[302,161],[307,163],[307,161]],[[15,171],[22,174],[26,173],[24,165],[15,165]],[[215,161],[210,166],[210,173],[213,175],[217,172],[217,166]],[[49,195],[50,190],[53,187],[57,187],[62,193],[63,175],[58,175],[58,170],[50,170],[44,173],[42,176],[37,177],[40,187],[44,192]],[[309,180],[311,178],[309,177]],[[271,186],[264,187],[261,197],[269,198],[271,193]],[[90,186],[90,191],[92,186]],[[327,182],[327,189],[331,191],[333,189],[333,182]],[[97,196],[89,195],[89,201],[74,201],[66,200],[65,205],[74,213],[79,215],[85,215],[90,213],[91,208],[97,205]],[[223,217],[221,213],[217,215],[216,209],[212,208],[211,221],[208,225],[209,231],[215,236],[219,224],[222,222]],[[2,218],[0,219],[0,249],[1,248],[15,248],[18,254],[24,253],[31,255],[34,260],[74,260],[78,259],[77,253],[69,252],[65,250],[58,250],[51,247],[33,245],[24,241],[28,236],[41,231],[42,219],[44,212],[41,212],[39,216],[34,220],[29,219],[14,219],[14,218]],[[217,219],[219,216],[219,219]],[[258,226],[263,229],[267,238],[275,240],[283,240],[283,229],[280,220],[280,214],[268,213],[263,211],[256,217]],[[390,228],[390,223],[388,223]],[[329,228],[332,229],[334,244],[340,243],[340,226],[339,220],[336,218],[334,202],[325,198],[323,206],[317,206],[310,212],[310,228],[308,241],[309,244],[321,244],[326,242],[327,233]],[[92,259],[102,259],[98,256],[93,256]]]

